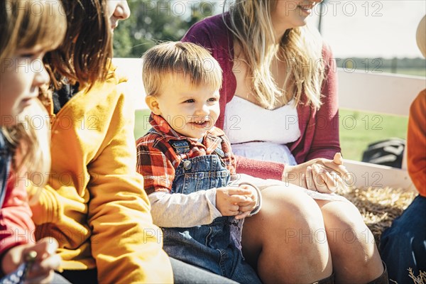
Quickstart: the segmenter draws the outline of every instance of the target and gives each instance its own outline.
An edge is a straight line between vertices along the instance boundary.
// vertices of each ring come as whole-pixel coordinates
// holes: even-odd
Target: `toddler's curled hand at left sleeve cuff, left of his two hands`
[[[251,195],[251,190],[246,188],[219,187],[216,189],[216,207],[222,216],[236,216],[241,213],[239,204],[251,202]]]

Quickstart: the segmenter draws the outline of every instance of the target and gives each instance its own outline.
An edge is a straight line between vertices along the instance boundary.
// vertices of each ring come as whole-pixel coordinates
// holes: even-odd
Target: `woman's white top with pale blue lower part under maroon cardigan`
[[[283,107],[269,110],[234,96],[226,104],[224,132],[235,155],[296,165],[285,146],[300,137],[293,99]]]

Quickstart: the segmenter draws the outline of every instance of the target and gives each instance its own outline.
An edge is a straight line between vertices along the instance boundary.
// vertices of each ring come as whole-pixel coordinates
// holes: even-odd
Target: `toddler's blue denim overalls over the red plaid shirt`
[[[181,157],[185,157],[185,153],[190,151],[190,144],[187,141],[169,143]],[[230,174],[219,158],[224,155],[220,144],[214,153],[215,155],[182,158],[175,171],[172,194],[189,195],[198,190],[228,185]],[[164,250],[171,257],[239,283],[261,283],[237,247],[241,242],[241,231],[240,238],[235,238],[233,231],[241,230],[241,226],[234,217],[218,217],[212,224],[191,228],[162,229]]]

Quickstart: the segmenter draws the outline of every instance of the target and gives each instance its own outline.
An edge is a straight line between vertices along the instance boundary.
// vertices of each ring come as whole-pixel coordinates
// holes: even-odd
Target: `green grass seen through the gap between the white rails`
[[[150,111],[136,111],[135,138],[151,129]],[[340,109],[340,144],[344,158],[361,160],[369,143],[391,137],[405,138],[408,118]]]

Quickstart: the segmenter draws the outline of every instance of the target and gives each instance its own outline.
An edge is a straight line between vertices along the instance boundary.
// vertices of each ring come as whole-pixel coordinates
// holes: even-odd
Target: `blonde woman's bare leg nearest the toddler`
[[[268,187],[246,218],[243,252],[263,283],[312,283],[332,274],[320,208],[298,187]],[[319,239],[320,235],[324,237]]]

